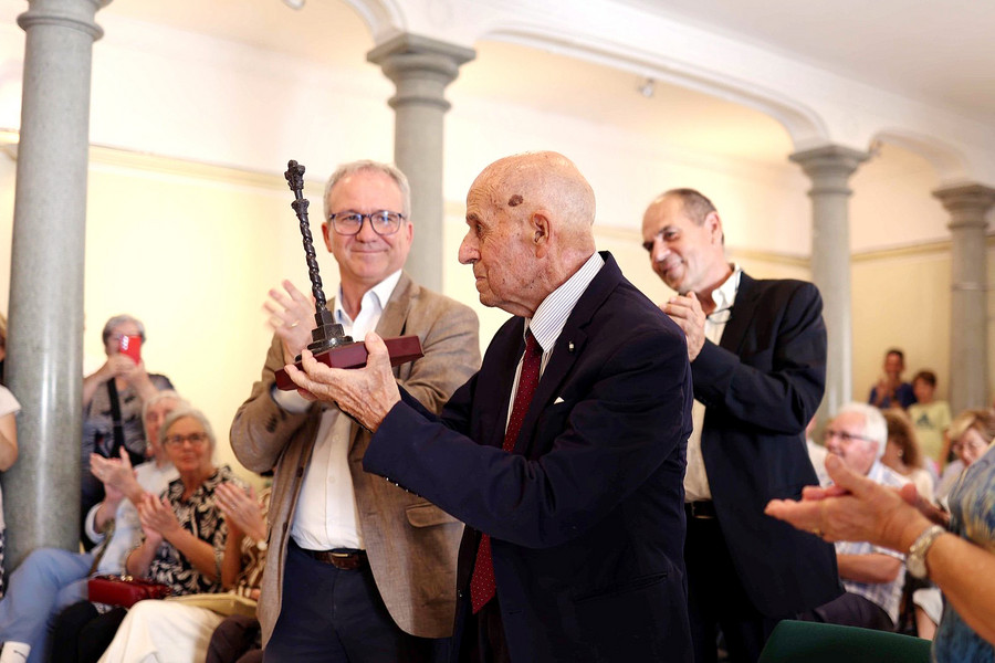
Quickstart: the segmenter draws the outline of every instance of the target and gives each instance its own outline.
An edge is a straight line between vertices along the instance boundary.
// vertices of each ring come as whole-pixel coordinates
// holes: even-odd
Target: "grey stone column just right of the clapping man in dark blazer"
[[[827,145],[793,154],[811,179],[811,280],[823,294],[828,335],[826,396],[819,419],[852,399],[853,330],[850,317],[850,188],[866,152]]]

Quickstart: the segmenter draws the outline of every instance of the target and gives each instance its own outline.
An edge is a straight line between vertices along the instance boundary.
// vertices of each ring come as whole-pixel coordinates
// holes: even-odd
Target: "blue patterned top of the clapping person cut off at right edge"
[[[950,529],[995,554],[995,445],[989,446],[954,485],[950,493]],[[938,663],[995,662],[995,646],[975,633],[949,602],[943,610],[933,660]]]

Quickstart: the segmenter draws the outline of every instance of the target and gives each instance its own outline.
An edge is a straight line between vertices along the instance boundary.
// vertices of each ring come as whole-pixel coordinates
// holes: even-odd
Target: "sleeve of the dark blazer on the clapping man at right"
[[[795,288],[783,307],[783,314],[760,307],[755,314],[779,318],[765,347],[741,357],[706,340],[692,375],[694,398],[710,410],[755,431],[793,435],[805,430],[823,400],[826,326],[821,297],[810,283]]]

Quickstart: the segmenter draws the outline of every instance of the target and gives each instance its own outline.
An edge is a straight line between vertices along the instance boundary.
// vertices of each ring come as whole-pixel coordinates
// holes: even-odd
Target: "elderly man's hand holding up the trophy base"
[[[367,430],[376,431],[400,400],[400,391],[390,370],[387,346],[375,332],[366,335],[366,350],[369,352],[366,366],[349,370],[328,368],[304,350],[304,370],[287,365],[286,375],[304,398],[338,406]]]

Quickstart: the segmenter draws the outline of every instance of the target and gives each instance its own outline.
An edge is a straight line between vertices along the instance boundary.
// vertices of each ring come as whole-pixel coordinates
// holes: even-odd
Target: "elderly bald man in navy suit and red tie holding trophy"
[[[594,218],[562,155],[507,157],[476,178],[460,262],[480,301],[515,317],[439,418],[398,390],[374,334],[363,370],[306,352],[304,372],[289,369],[376,431],[367,471],[467,523],[453,661],[690,661],[687,346],[595,251]]]

